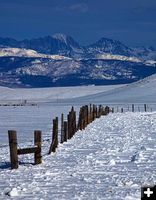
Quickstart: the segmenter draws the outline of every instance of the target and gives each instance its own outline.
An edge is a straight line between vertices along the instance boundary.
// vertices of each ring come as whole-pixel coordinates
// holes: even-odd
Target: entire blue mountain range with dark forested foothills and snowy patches
[[[156,73],[156,50],[101,38],[82,46],[55,34],[17,41],[0,38],[0,85],[49,87],[130,83]]]

